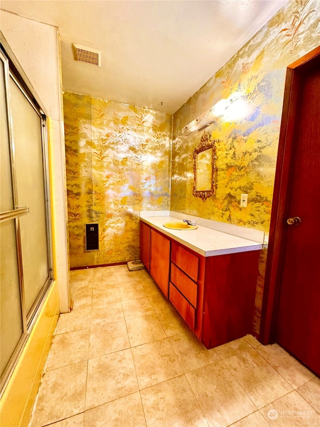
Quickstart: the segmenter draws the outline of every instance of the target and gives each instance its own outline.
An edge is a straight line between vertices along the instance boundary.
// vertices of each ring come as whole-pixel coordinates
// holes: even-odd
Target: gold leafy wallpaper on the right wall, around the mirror
[[[190,215],[269,231],[286,67],[320,45],[317,1],[289,1],[173,116],[170,208]],[[219,100],[225,114],[205,131],[216,146],[216,194],[192,196],[192,153],[204,130],[183,136],[184,126]],[[241,193],[248,194],[246,208]],[[266,246],[261,252],[254,331],[259,319]]]

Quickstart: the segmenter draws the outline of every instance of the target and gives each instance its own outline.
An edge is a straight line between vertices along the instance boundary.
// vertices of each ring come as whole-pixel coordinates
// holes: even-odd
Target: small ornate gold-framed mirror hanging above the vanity
[[[193,151],[193,196],[200,197],[204,202],[213,196],[216,188],[215,150],[216,140],[212,140],[208,132],[204,132],[200,144]]]

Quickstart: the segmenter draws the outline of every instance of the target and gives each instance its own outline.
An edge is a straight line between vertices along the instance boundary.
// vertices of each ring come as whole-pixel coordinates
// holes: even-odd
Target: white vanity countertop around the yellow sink
[[[143,222],[152,226],[154,229],[160,231],[166,236],[176,240],[177,242],[202,256],[216,256],[262,249],[263,237],[262,240],[259,238],[261,242],[250,240],[211,228],[214,226],[214,223],[216,223],[215,221],[204,220],[205,224],[209,225],[208,227],[199,224],[199,222],[201,222],[201,218],[198,218],[197,222],[196,217],[190,217],[189,215],[182,214],[178,214],[177,216],[173,214],[173,216],[172,212],[168,211],[163,213],[166,212],[167,214],[161,215],[160,212],[156,211],[143,211],[140,212],[140,218],[143,220]],[[154,214],[154,216],[152,216],[152,214]],[[165,222],[182,222],[182,218],[195,219],[195,223],[198,228],[195,230],[172,230],[163,227]],[[212,225],[210,223],[212,223]],[[228,224],[224,224],[224,227],[227,228],[227,226]],[[236,230],[234,227],[236,226],[231,225],[230,227],[233,232]],[[245,232],[245,230],[248,230],[248,233],[250,232],[250,229],[245,229],[243,227],[236,228],[240,228],[242,234]],[[263,235],[263,233],[261,235]]]

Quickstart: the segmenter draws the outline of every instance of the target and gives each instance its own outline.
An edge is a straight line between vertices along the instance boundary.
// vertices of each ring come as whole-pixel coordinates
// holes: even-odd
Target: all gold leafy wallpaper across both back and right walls
[[[70,266],[138,258],[139,210],[255,228],[267,243],[286,67],[319,45],[318,2],[289,0],[173,115],[172,135],[170,115],[65,93]],[[231,108],[205,129],[219,140],[216,194],[203,202],[192,195],[192,154],[203,130],[183,136],[181,129],[221,99]],[[241,193],[248,194],[246,208],[239,206]],[[84,250],[87,222],[99,224],[99,251]],[[265,245],[255,333],[266,254]]]

